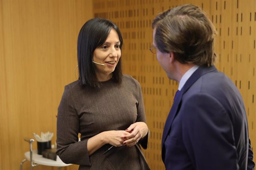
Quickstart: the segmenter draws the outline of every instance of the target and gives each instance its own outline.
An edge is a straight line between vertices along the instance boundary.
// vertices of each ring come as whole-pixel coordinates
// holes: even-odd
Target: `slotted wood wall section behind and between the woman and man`
[[[164,169],[162,131],[178,83],[167,78],[156,55],[149,51],[151,23],[158,12],[181,4],[200,6],[214,23],[218,31],[216,67],[231,78],[242,94],[250,139],[256,152],[255,0],[94,0],[94,16],[114,21],[122,32],[124,73],[134,76],[142,86],[151,131],[149,148],[144,153],[152,170]]]

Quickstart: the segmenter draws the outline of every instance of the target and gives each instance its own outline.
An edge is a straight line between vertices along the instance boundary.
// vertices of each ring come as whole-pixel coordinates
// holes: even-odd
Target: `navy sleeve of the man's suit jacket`
[[[182,106],[182,137],[195,169],[238,170],[232,122],[224,107],[207,94],[193,95]]]

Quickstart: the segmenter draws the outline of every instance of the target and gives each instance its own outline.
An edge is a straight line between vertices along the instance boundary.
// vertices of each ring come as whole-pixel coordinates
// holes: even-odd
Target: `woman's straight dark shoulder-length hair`
[[[106,41],[111,29],[116,30],[120,49],[122,50],[123,39],[118,27],[110,20],[94,18],[88,20],[80,29],[77,42],[77,59],[79,69],[79,81],[82,86],[99,87],[100,82],[95,73],[95,66],[92,63],[94,50]],[[122,82],[121,57],[112,72],[112,79],[117,84]]]

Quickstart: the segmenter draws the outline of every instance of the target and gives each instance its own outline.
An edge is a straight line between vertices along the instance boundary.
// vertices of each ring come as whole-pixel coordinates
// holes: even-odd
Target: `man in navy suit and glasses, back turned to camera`
[[[178,93],[162,136],[167,170],[253,170],[242,96],[214,66],[214,25],[182,5],[154,19],[153,47]],[[156,51],[155,51],[156,50]]]

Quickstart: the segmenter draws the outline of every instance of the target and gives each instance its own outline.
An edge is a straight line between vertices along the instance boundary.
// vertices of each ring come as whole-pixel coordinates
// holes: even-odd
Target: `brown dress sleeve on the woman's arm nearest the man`
[[[137,119],[136,122],[145,122],[146,123],[146,115],[145,115],[145,108],[144,108],[144,101],[143,101],[143,96],[142,96],[142,90],[141,86],[138,81],[136,81],[136,86],[138,90],[138,104],[137,104]],[[139,143],[142,146],[143,149],[148,148],[148,138],[149,138],[150,131],[148,129],[148,134],[143,138],[140,139]]]

